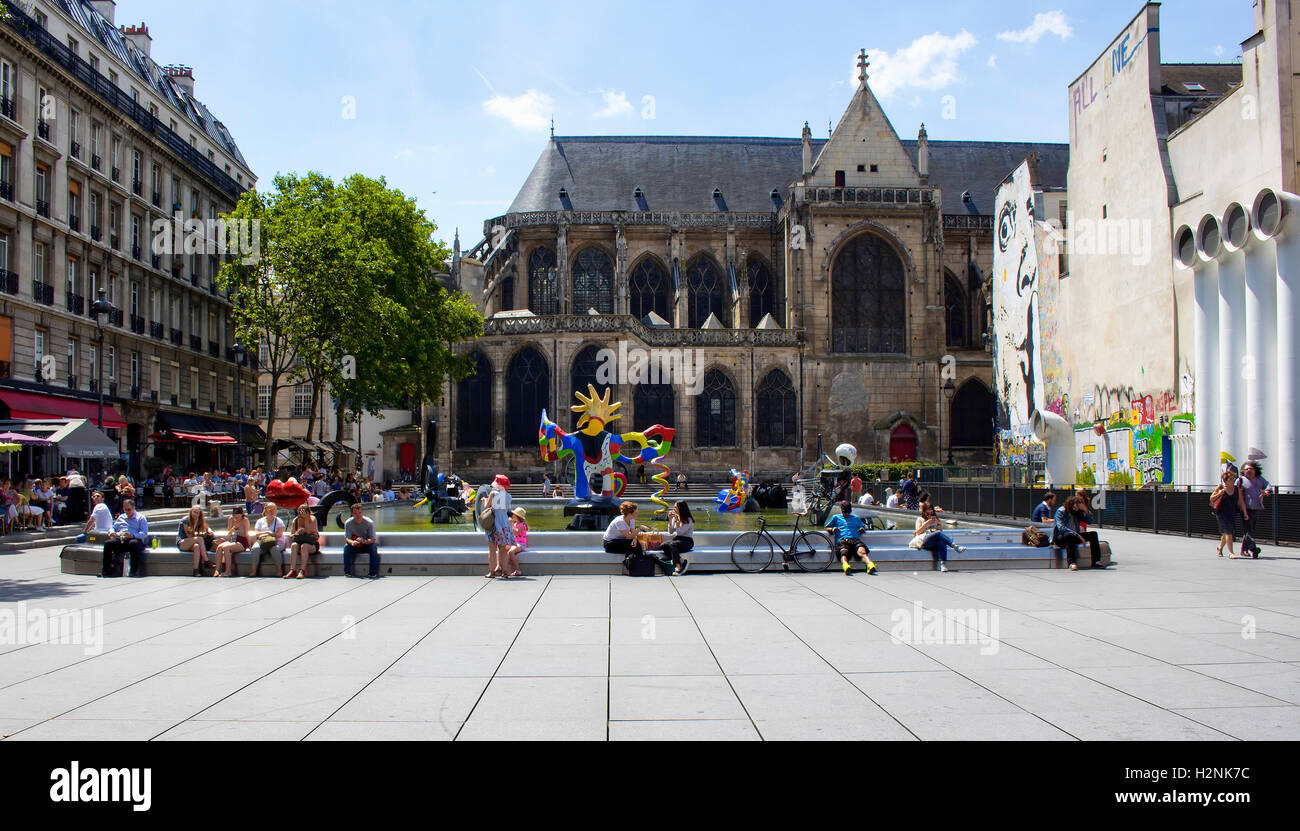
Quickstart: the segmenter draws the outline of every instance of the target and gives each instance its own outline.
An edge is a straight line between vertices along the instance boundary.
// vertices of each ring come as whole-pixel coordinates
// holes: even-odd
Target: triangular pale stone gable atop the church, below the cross
[[[858,172],[862,165],[862,172]],[[876,165],[876,172],[871,172]],[[831,139],[822,147],[812,165],[809,185],[835,187],[835,172],[844,170],[844,186],[871,187],[893,185],[919,187],[920,173],[894,133],[889,117],[866,82],[844,111]]]

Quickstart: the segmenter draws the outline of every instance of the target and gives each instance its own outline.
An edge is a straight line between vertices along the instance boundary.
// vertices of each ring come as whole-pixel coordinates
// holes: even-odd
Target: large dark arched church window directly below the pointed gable
[[[840,250],[833,269],[831,351],[905,352],[904,265],[889,243],[862,234]]]

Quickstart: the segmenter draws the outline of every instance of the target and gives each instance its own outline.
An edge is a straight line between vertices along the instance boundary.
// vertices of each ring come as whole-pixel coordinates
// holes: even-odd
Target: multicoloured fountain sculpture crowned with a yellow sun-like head
[[[537,443],[541,447],[543,462],[556,462],[566,456],[575,459],[573,502],[592,502],[612,505],[623,495],[628,480],[619,471],[614,469],[614,460],[624,464],[651,464],[659,468],[653,477],[660,485],[659,492],[651,501],[660,505],[655,515],[663,514],[668,503],[663,494],[668,490],[668,467],[662,459],[672,449],[672,437],[676,434],[670,427],[655,424],[640,433],[611,433],[606,429],[612,421],[623,417],[618,410],[621,402],[610,402],[610,390],[604,395],[597,394],[595,388],[588,385],[588,394],[573,393],[578,403],[573,404],[573,412],[580,414],[577,433],[566,433],[560,425],[555,424],[542,411],[542,424],[537,430]],[[636,443],[640,450],[632,455],[624,455],[624,445]],[[592,493],[590,482],[599,477],[601,493]]]

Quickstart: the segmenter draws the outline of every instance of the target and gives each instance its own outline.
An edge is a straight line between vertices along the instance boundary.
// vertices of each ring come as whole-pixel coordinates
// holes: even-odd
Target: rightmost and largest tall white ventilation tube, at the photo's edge
[[[1273,427],[1277,430],[1266,455],[1275,459],[1269,479],[1286,488],[1300,485],[1296,402],[1300,395],[1300,196],[1264,189],[1254,198],[1252,220],[1257,238],[1273,239],[1277,251],[1274,298],[1275,368],[1273,377],[1260,376],[1274,389]],[[1261,310],[1261,316],[1264,316]]]

